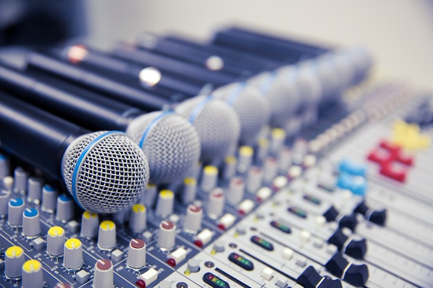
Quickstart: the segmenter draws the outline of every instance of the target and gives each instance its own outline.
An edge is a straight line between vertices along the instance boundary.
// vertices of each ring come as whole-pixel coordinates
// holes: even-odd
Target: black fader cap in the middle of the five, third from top
[[[339,251],[352,256],[356,259],[362,259],[367,252],[367,241],[362,238],[360,240],[353,240],[352,238],[344,235],[342,229],[337,229],[335,233],[328,239],[329,244],[334,244]]]

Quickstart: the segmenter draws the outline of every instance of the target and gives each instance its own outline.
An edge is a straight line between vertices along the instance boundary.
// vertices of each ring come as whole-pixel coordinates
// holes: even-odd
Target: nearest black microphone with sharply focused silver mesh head
[[[145,191],[147,158],[125,133],[90,133],[5,93],[0,93],[0,125],[1,147],[63,180],[84,210],[116,213]]]

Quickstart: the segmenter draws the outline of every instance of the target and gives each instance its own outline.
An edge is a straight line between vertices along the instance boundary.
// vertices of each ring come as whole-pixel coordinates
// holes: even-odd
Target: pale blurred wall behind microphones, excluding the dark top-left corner
[[[209,39],[243,26],[337,46],[362,44],[379,77],[433,91],[433,1],[429,0],[92,0],[85,1],[91,44],[109,48],[141,31]]]

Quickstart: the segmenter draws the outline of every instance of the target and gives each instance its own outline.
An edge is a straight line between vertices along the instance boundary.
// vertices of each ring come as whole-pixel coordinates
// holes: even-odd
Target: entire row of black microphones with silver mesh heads
[[[238,144],[254,145],[266,125],[317,114],[370,67],[362,48],[241,28],[206,45],[145,34],[111,52],[28,52],[24,69],[0,64],[0,145],[62,180],[82,209],[115,213],[148,183],[176,182],[199,161],[218,165]]]

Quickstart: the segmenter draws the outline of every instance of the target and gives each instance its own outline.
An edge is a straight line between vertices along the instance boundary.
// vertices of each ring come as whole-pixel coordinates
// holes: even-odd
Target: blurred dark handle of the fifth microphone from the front
[[[215,86],[221,86],[237,79],[232,75],[206,70],[183,61],[140,50],[128,44],[120,44],[120,46],[113,50],[112,55],[141,65],[154,66],[162,72],[171,73],[190,81],[200,81],[201,84],[211,83]]]

